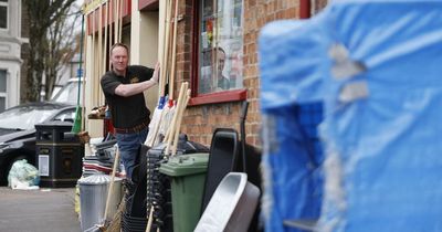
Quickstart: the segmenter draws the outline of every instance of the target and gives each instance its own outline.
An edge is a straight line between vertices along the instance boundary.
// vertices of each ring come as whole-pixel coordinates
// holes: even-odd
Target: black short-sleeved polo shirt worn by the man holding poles
[[[112,123],[116,128],[131,128],[146,122],[150,115],[143,93],[124,97],[115,94],[120,84],[134,84],[150,80],[154,70],[141,65],[127,67],[126,77],[109,71],[101,80],[102,88],[110,108]]]

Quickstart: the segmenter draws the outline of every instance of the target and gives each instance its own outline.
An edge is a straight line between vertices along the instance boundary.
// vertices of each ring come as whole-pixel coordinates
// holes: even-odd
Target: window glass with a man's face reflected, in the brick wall
[[[243,87],[243,0],[199,1],[198,95]]]

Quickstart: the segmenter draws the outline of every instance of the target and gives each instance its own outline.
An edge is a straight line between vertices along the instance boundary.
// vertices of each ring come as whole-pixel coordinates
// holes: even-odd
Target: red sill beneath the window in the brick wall
[[[220,93],[203,94],[192,97],[189,101],[190,106],[213,104],[213,103],[228,103],[244,101],[248,98],[246,89],[225,91]]]

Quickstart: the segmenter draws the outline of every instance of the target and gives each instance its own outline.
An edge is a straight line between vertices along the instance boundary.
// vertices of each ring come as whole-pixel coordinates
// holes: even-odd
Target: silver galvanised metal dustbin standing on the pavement
[[[115,177],[114,181],[107,219],[114,217],[122,200],[122,178]],[[103,217],[109,184],[110,176],[108,175],[92,175],[78,180],[82,231],[104,222]]]

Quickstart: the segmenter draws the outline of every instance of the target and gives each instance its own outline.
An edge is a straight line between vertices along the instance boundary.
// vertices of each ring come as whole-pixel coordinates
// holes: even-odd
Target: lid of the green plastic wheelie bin
[[[208,161],[209,154],[173,156],[160,166],[159,172],[170,177],[201,173],[207,171]]]

